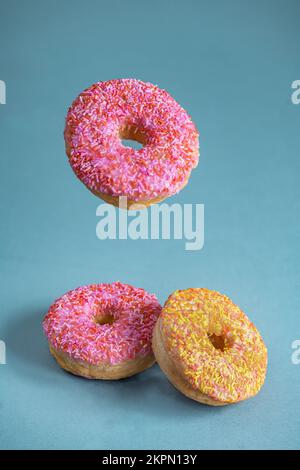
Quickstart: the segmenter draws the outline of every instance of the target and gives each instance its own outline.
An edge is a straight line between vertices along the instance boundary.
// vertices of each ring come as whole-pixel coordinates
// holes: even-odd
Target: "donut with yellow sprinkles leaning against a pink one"
[[[209,289],[175,291],[157,320],[152,346],[169,381],[200,403],[245,400],[265,380],[267,349],[258,330],[228,297]]]

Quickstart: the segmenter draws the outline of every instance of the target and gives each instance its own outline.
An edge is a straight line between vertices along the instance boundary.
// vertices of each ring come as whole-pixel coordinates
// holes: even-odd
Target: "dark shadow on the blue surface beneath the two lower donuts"
[[[157,364],[137,375],[117,381],[89,380],[66,372],[49,352],[42,330],[46,312],[47,308],[36,308],[18,314],[5,331],[12,367],[18,374],[25,374],[33,383],[67,387],[73,396],[74,387],[78,387],[78,394],[89,394],[93,402],[99,403],[99,409],[105,406],[105,402],[107,406],[115,403],[117,408],[127,407],[148,415],[175,415],[179,419],[199,419],[203,414],[223,413],[230,409],[216,409],[186,398],[169,383]]]

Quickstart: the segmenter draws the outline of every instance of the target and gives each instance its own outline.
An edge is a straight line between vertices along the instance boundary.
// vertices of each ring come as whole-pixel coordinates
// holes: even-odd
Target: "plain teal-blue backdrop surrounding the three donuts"
[[[1,448],[299,448],[300,2],[0,3]],[[201,161],[169,202],[205,204],[205,246],[100,241],[101,202],[73,175],[63,127],[77,94],[135,77],[167,89],[201,133]],[[69,289],[120,280],[161,302],[177,288],[226,293],[269,348],[261,393],[209,408],[158,366],[87,381],[50,357],[41,321]]]

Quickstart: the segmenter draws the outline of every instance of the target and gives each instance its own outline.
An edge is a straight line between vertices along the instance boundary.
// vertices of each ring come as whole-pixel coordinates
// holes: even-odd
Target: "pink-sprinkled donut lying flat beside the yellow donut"
[[[68,372],[116,380],[155,362],[153,327],[161,312],[155,295],[120,282],[71,290],[43,321],[49,349]]]

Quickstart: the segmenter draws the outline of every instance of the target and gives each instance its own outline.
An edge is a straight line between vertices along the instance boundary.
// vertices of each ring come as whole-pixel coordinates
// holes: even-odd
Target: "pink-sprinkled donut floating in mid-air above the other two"
[[[198,163],[189,115],[165,90],[140,80],[98,82],[83,91],[68,110],[64,136],[77,177],[110,204],[126,197],[127,209],[177,193]]]

